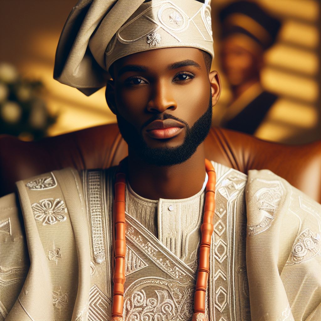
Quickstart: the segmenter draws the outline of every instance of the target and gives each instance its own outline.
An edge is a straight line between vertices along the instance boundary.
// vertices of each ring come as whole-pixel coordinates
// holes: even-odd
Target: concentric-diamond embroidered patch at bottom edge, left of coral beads
[[[88,321],[108,321],[111,314],[111,301],[95,284],[89,293]]]

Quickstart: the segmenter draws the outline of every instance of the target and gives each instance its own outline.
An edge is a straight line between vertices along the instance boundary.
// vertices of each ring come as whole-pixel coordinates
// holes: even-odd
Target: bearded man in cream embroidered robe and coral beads
[[[321,206],[268,170],[204,159],[220,95],[210,26],[208,1],[74,7],[55,77],[90,94],[108,70],[128,158],[19,181],[20,205],[0,200],[3,319],[320,317]]]

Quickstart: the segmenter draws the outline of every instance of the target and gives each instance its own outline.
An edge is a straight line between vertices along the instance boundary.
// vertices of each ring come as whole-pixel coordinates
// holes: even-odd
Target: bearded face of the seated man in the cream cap
[[[121,58],[113,68],[117,121],[129,149],[158,166],[190,158],[212,119],[202,51],[154,49]]]

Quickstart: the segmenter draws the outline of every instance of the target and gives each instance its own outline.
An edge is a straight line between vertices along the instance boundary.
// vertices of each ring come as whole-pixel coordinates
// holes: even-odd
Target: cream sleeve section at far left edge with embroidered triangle
[[[29,266],[23,218],[12,193],[0,198],[0,320],[17,300]]]

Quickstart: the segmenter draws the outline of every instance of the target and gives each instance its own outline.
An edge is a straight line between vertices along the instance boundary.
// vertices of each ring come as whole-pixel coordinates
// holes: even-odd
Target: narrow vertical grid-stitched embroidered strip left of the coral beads
[[[88,202],[91,218],[92,245],[98,264],[106,259],[102,227],[101,172],[88,171]]]

